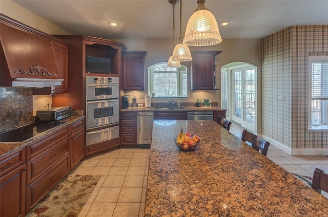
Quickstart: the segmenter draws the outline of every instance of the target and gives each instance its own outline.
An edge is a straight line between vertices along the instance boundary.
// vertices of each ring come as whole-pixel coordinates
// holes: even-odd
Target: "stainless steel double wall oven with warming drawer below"
[[[86,145],[119,137],[118,77],[86,77]],[[106,128],[106,126],[108,126]]]

